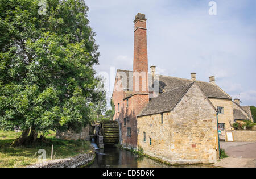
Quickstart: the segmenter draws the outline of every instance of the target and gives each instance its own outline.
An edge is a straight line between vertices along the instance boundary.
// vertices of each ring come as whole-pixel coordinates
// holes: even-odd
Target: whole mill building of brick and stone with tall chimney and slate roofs
[[[133,70],[117,70],[112,101],[113,120],[120,127],[120,143],[126,148],[143,148],[152,157],[168,163],[214,163],[218,157],[218,126],[231,129],[235,104],[216,84],[148,73],[147,28],[144,14],[134,20]],[[234,107],[236,109],[234,109]],[[238,120],[238,119],[237,119]]]

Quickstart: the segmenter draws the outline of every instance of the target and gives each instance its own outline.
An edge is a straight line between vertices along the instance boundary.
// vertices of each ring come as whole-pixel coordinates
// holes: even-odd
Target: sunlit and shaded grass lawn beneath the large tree
[[[0,168],[2,167],[23,167],[38,163],[39,149],[46,150],[46,160],[51,160],[51,145],[10,147],[10,143],[20,136],[21,132],[0,131]],[[50,132],[47,139],[52,140],[53,155],[55,159],[64,159],[75,156],[79,153],[90,152],[89,141],[61,140],[55,138],[55,133]]]

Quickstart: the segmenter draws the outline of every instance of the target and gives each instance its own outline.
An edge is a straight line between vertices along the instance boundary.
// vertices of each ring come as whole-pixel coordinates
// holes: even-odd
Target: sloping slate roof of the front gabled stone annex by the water
[[[188,89],[192,85],[193,82],[188,85],[179,86],[165,93],[159,94],[156,98],[152,98],[150,103],[148,103],[147,106],[144,107],[141,114],[139,114],[138,116],[171,111],[172,109],[174,109],[180,99],[185,95],[185,93],[187,93]]]

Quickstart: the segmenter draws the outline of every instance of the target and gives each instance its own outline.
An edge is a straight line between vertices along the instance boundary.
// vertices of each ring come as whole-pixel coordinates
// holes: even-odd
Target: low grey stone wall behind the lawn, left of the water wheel
[[[65,132],[56,131],[56,138],[65,140],[90,140],[89,127],[90,125],[88,124],[86,127],[82,128],[82,132],[80,133],[70,130]]]

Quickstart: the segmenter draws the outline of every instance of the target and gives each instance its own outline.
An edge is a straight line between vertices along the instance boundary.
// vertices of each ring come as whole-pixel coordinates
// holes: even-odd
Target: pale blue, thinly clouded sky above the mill
[[[111,98],[117,69],[133,70],[134,23],[146,14],[148,66],[159,74],[209,81],[241,105],[256,106],[256,1],[85,0],[90,27],[96,32],[100,65]],[[109,101],[108,101],[109,102]]]

